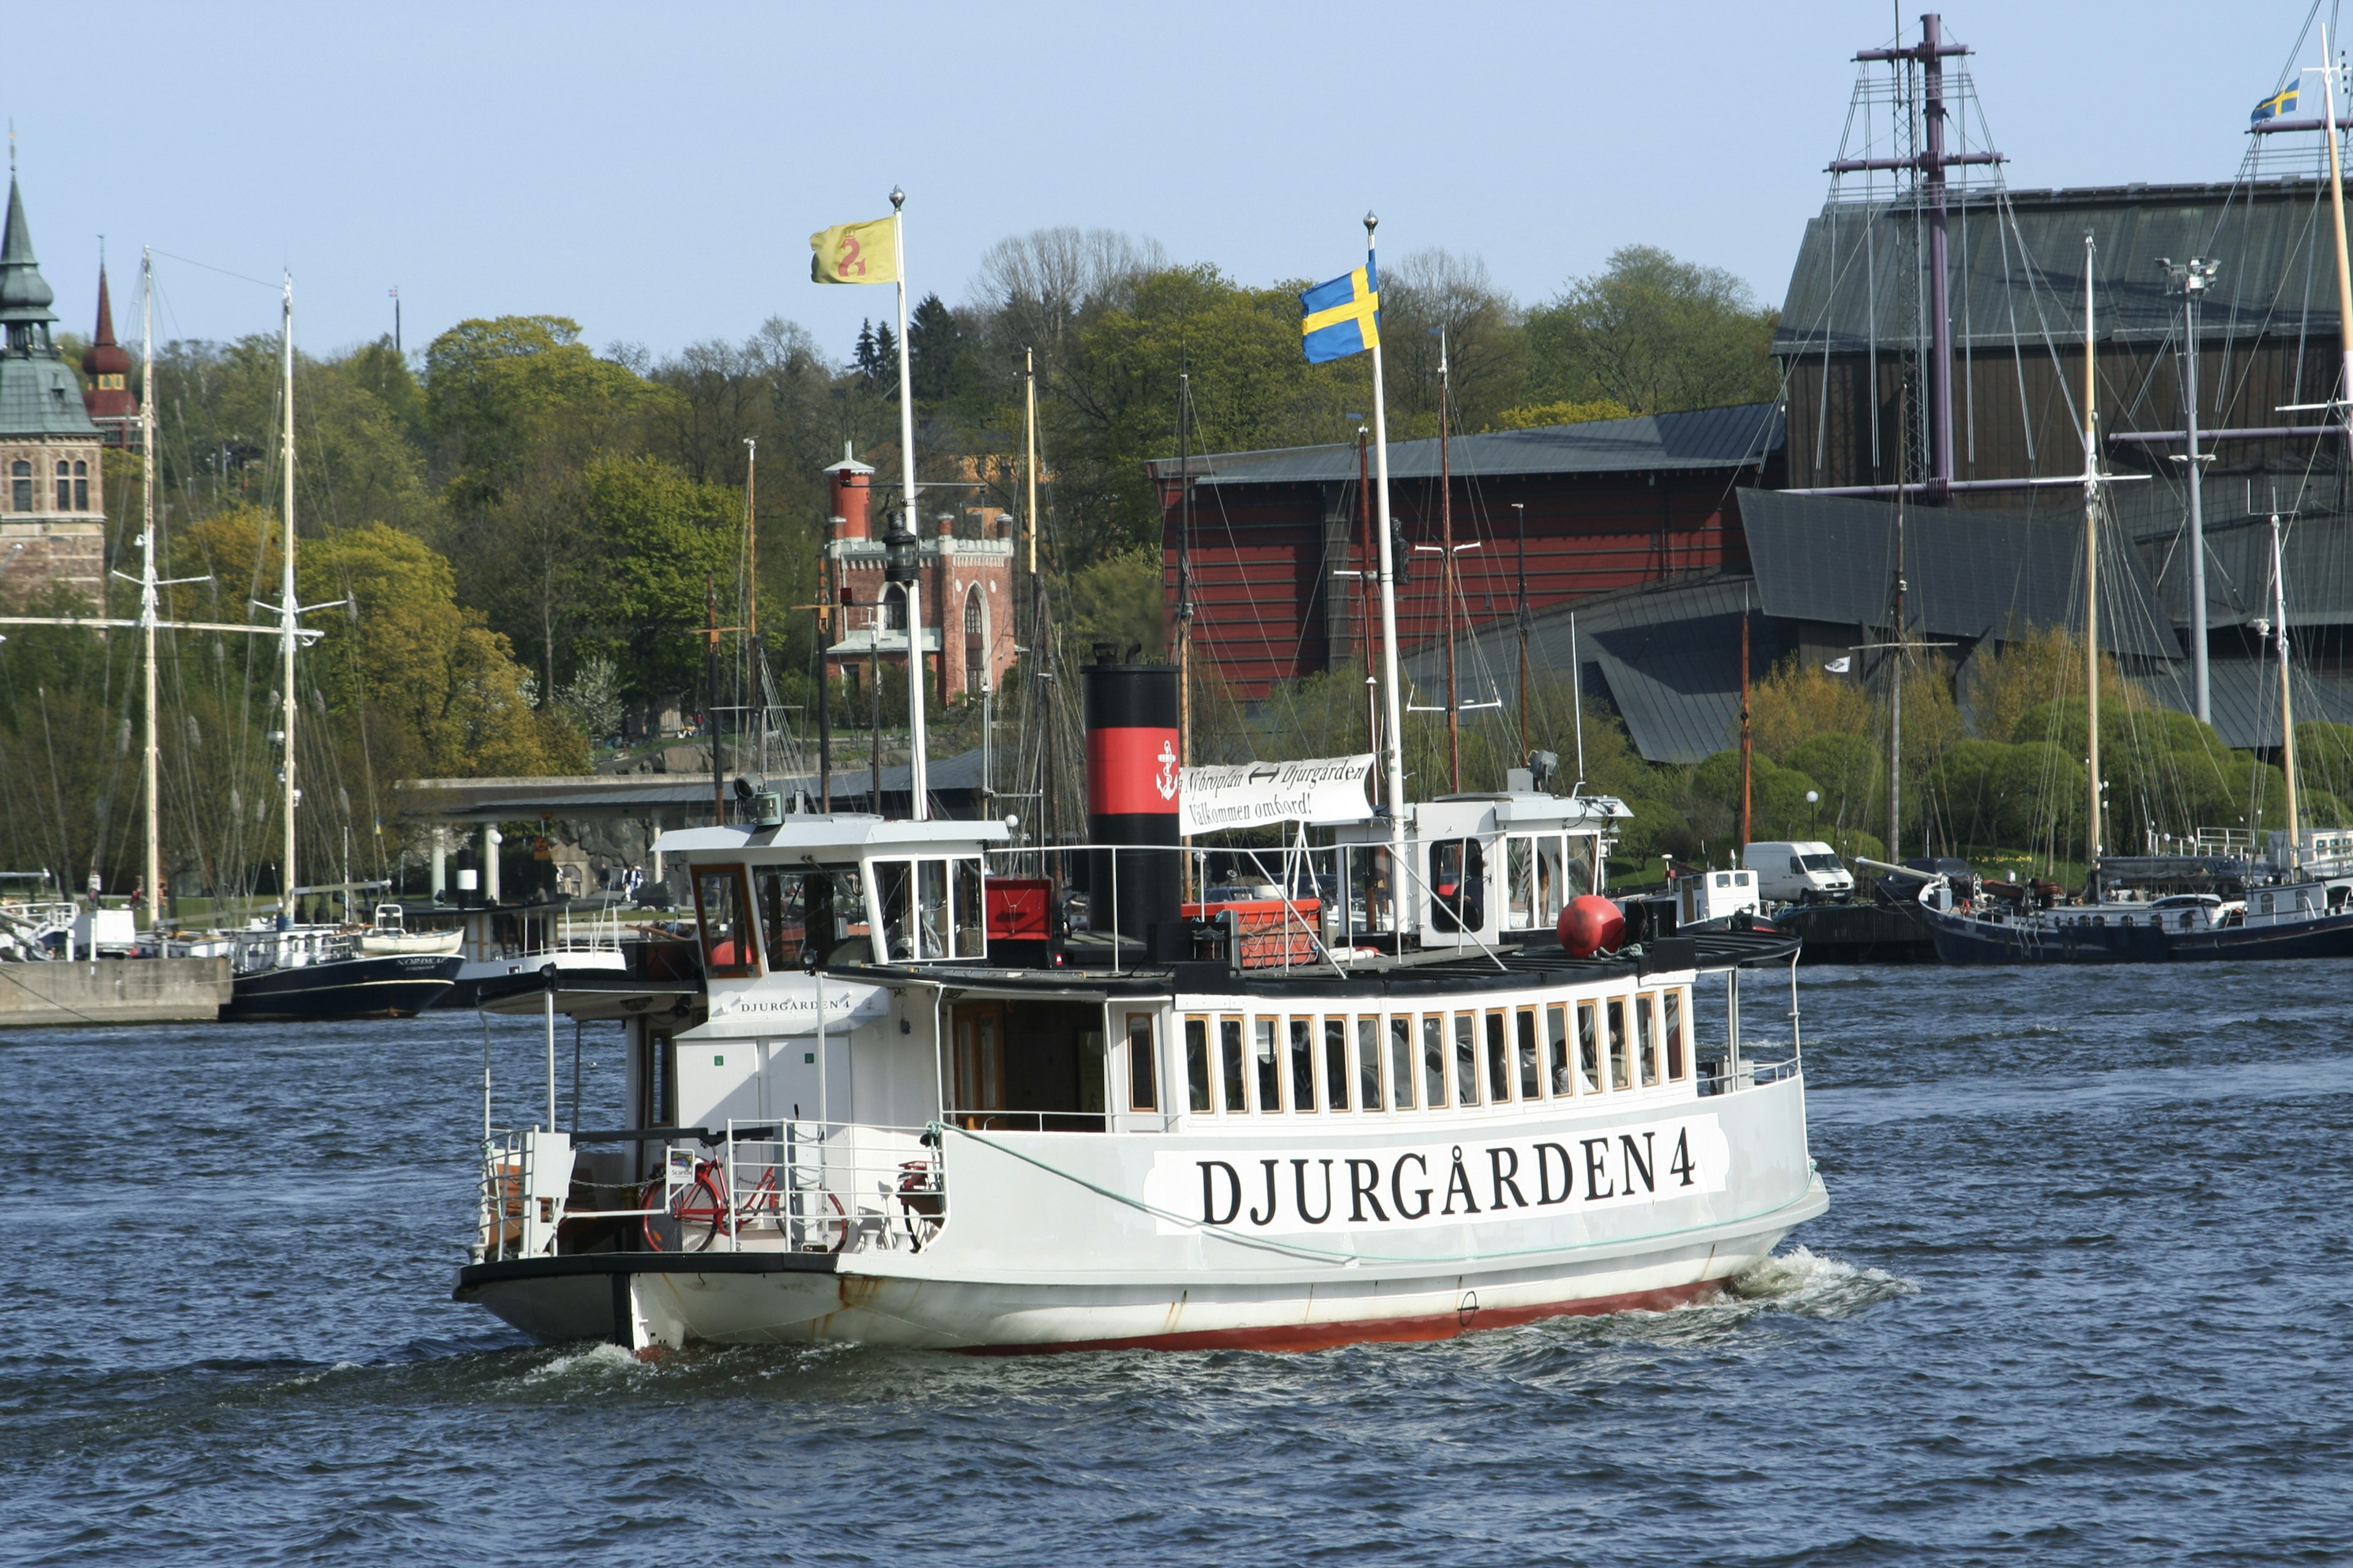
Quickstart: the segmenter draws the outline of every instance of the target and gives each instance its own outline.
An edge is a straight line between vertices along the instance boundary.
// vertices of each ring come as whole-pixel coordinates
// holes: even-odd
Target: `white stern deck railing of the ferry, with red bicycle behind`
[[[619,1154],[586,1144],[624,1144]],[[631,1149],[659,1144],[645,1175]],[[475,1262],[576,1253],[920,1253],[948,1222],[929,1128],[725,1128],[482,1140]]]

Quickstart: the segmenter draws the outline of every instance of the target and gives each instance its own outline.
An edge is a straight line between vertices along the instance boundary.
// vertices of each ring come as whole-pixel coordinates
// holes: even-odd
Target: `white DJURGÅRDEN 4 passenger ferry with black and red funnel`
[[[1795,939],[1555,939],[1621,805],[1412,808],[1402,930],[1386,819],[1313,852],[1348,890],[1329,913],[1179,916],[1174,815],[1158,836],[1106,810],[1160,730],[1094,716],[1096,687],[1160,678],[1174,704],[1174,671],[1087,676],[1092,836],[1118,845],[1087,937],[1054,937],[1047,881],[998,873],[1038,857],[1005,824],[767,805],[661,838],[692,866],[701,984],[487,989],[548,1019],[546,1111],[494,1130],[485,1067],[459,1300],[638,1351],[1306,1349],[1666,1309],[1824,1210]],[[1772,1052],[1741,1041],[1755,965],[1788,968]],[[635,1125],[558,1130],[555,1012],[626,1019]]]

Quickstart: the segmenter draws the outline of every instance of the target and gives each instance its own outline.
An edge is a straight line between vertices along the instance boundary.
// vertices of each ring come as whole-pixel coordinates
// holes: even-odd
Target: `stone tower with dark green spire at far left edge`
[[[0,231],[0,593],[24,600],[64,586],[89,605],[106,589],[106,494],[99,426],[82,407],[82,381],[49,337],[56,299],[33,259],[16,174],[7,181]]]

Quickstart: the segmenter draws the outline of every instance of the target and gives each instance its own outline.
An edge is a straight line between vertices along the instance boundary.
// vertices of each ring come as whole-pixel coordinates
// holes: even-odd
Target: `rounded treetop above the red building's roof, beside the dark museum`
[[[1626,245],[1607,271],[1529,311],[1527,391],[1640,414],[1762,403],[1781,386],[1767,353],[1777,320],[1732,273]]]

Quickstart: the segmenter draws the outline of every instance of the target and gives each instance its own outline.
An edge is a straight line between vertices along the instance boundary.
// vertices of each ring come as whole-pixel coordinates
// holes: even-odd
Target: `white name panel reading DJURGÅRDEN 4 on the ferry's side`
[[[1732,1147],[1715,1116],[1527,1137],[1289,1156],[1165,1149],[1144,1175],[1162,1236],[1428,1229],[1579,1215],[1725,1191]]]

